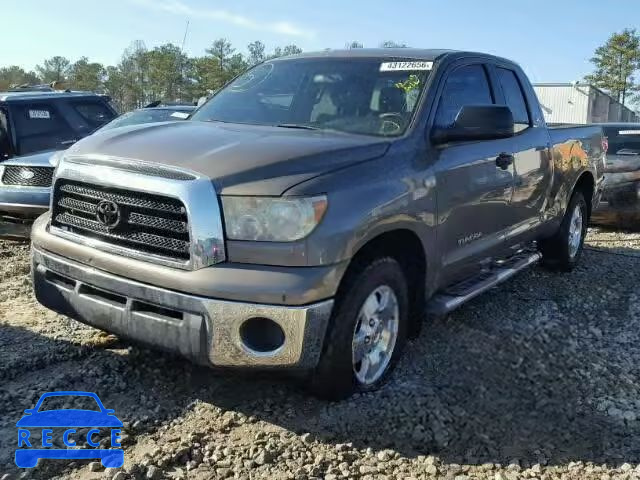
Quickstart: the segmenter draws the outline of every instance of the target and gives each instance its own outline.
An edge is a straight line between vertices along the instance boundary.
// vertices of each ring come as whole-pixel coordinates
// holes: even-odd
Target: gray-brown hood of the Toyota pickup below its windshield
[[[98,132],[72,155],[100,154],[186,168],[226,195],[281,195],[332,170],[383,155],[386,139],[315,130],[199,121]]]

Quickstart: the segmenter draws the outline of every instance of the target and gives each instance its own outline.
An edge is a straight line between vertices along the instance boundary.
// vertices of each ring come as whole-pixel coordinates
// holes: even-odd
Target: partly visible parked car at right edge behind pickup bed
[[[640,227],[640,123],[603,123],[607,164],[602,203],[594,222]]]

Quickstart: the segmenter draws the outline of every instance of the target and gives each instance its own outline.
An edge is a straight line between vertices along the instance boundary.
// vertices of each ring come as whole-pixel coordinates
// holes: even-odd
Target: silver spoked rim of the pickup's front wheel
[[[381,285],[366,298],[356,320],[351,346],[353,373],[370,385],[387,370],[398,338],[400,310],[393,289]]]

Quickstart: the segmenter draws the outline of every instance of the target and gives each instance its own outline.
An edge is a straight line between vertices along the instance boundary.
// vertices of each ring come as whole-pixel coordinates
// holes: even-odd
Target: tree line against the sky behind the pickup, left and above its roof
[[[385,41],[382,47],[406,47],[403,43]],[[362,48],[353,41],[346,48]],[[225,38],[215,40],[205,55],[189,57],[173,43],[148,49],[144,42],[133,42],[117,65],[103,65],[82,57],[72,62],[63,56],[48,58],[34,71],[12,65],[0,68],[0,90],[20,85],[56,82],[72,90],[89,90],[109,95],[124,112],[156,100],[193,102],[222,87],[247,68],[270,58],[301,53],[290,44],[268,52],[259,40],[239,52]]]

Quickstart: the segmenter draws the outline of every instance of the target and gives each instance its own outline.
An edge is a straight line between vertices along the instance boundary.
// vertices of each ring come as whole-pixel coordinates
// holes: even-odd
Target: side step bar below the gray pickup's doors
[[[520,270],[537,263],[541,258],[542,255],[538,252],[522,253],[498,264],[487,272],[438,292],[429,300],[427,313],[439,316],[446,315],[463,303],[513,277]]]

